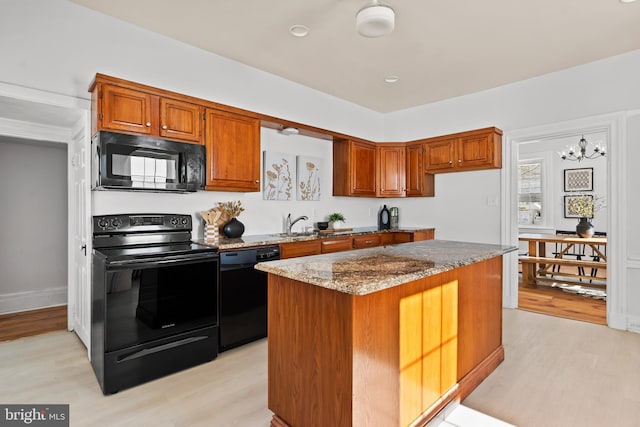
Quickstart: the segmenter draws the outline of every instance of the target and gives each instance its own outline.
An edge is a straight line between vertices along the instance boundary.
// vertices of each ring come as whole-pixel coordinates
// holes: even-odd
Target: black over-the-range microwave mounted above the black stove
[[[93,190],[204,189],[203,145],[101,131],[93,137],[91,149]]]

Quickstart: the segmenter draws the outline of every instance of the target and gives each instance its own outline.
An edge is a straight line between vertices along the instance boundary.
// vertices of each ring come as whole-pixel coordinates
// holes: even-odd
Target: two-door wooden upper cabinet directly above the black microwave
[[[164,96],[142,85],[136,88],[128,83],[125,87],[96,78],[92,102],[94,132],[109,130],[204,144],[204,108],[186,97]]]

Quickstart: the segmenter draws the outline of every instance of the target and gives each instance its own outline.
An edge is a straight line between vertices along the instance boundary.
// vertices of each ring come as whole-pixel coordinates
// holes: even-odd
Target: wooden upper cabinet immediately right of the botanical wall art
[[[334,140],[333,195],[376,197],[376,144]]]

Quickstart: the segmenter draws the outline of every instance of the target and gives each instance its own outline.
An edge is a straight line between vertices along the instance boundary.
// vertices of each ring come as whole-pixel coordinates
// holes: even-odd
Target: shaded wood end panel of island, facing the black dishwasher
[[[281,425],[350,426],[351,296],[269,274],[268,298],[269,409]]]

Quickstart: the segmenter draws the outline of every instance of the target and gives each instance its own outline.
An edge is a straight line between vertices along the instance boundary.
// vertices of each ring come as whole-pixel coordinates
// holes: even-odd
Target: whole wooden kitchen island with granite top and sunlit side
[[[431,240],[258,264],[272,426],[424,425],[502,360],[502,255]]]

